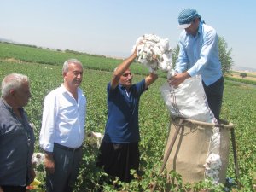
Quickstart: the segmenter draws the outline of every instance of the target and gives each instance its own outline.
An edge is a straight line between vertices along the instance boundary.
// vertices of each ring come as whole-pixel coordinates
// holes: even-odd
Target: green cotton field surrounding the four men
[[[38,148],[38,132],[41,127],[42,109],[44,96],[59,86],[62,82],[62,63],[68,58],[78,58],[84,64],[84,80],[81,85],[87,97],[86,131],[104,131],[107,119],[106,86],[111,79],[113,68],[120,60],[114,60],[95,55],[78,55],[72,53],[56,52],[44,49],[22,47],[12,44],[0,44],[0,80],[9,73],[23,73],[31,80],[32,99],[26,107],[26,112],[31,122],[36,125],[37,136],[36,150]],[[102,67],[103,66],[103,67]],[[145,67],[134,64],[131,68],[136,75],[134,82],[142,79],[148,72]],[[130,185],[120,183],[123,191],[149,191],[154,179],[159,179],[158,191],[164,191],[166,181],[164,176],[156,176],[159,171],[161,160],[166,146],[168,134],[169,113],[160,96],[160,86],[166,82],[164,74],[146,91],[141,99],[139,108],[139,124],[141,132],[141,173]],[[256,185],[256,88],[240,86],[225,82],[224,102],[221,118],[227,119],[235,125],[236,145],[239,164],[239,181],[241,189],[233,187],[232,191],[253,191]],[[96,168],[96,148],[84,143],[83,165],[80,169],[79,182],[76,191],[117,191],[113,185],[100,176],[104,174]],[[227,177],[235,178],[234,160],[230,148],[230,163]],[[177,182],[182,180],[172,172]],[[113,182],[113,181],[112,181]],[[162,182],[162,183],[161,183]],[[199,183],[198,190],[207,188],[207,183]],[[208,188],[211,191],[221,191],[214,186]],[[173,191],[189,191],[185,183],[176,186]],[[187,189],[187,190],[185,190]],[[119,191],[121,189],[118,189]],[[192,190],[190,190],[192,191]]]

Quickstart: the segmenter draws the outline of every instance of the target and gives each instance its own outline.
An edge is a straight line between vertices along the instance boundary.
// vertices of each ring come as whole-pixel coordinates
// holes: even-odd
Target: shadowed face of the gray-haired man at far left
[[[15,102],[18,108],[26,106],[29,98],[31,97],[29,83],[24,82],[20,89],[13,90],[13,95],[15,96]]]

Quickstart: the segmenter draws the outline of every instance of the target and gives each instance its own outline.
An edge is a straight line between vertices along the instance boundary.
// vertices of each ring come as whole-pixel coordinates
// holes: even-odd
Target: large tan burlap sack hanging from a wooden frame
[[[166,150],[172,142],[178,122],[172,119]],[[172,152],[166,162],[167,171],[174,170],[181,174],[183,183],[195,183],[206,178],[204,164],[209,154],[212,137],[212,126],[191,124],[185,121],[181,126],[177,139],[173,145]],[[219,183],[224,183],[229,160],[229,129],[220,128],[219,155],[222,165],[219,169]]]

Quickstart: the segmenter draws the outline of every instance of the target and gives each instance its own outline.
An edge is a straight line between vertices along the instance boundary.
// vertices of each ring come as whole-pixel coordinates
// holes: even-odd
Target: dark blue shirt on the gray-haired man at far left
[[[32,154],[35,137],[23,108],[18,118],[0,99],[0,186],[26,186],[32,182]]]

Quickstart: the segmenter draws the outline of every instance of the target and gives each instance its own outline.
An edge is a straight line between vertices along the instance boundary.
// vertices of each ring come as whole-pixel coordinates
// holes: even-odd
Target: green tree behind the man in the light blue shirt
[[[232,49],[228,49],[228,44],[223,37],[218,37],[218,51],[219,51],[219,60],[221,62],[222,72],[224,74],[230,74],[231,68],[233,67],[233,61],[231,57]],[[172,49],[172,64],[175,67],[177,61],[177,56],[179,52],[179,46]]]

